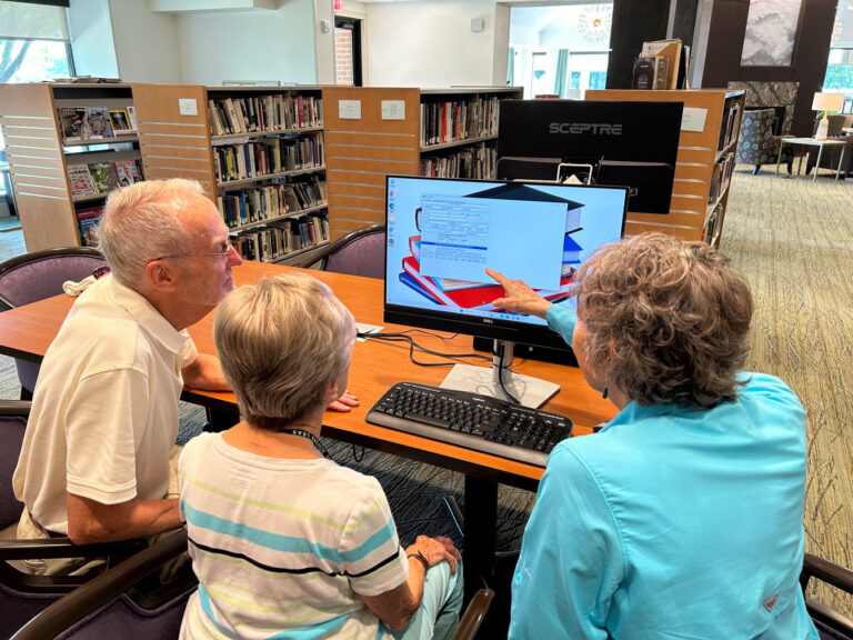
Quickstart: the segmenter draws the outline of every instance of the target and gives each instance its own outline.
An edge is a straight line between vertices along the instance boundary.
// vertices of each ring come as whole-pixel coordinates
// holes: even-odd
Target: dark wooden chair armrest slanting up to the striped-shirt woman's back
[[[60,598],[21,627],[12,638],[40,640],[56,637],[185,550],[187,531],[181,529]]]

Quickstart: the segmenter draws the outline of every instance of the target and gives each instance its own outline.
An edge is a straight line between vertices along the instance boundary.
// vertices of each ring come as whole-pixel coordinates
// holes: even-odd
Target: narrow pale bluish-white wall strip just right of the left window
[[[119,78],[108,0],[72,0],[68,28],[78,76]]]

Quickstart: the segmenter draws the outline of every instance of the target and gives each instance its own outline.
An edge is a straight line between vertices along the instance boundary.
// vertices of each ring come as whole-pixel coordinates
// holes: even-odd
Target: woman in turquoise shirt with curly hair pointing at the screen
[[[492,276],[494,304],[545,318],[620,410],[549,458],[510,638],[817,638],[797,582],[805,412],[777,378],[741,372],[744,277],[662,234],[593,252],[576,314]]]

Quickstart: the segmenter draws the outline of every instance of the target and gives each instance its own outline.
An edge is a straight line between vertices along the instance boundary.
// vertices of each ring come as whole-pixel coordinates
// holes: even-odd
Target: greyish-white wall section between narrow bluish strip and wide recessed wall
[[[124,82],[180,82],[174,16],[153,13],[147,2],[139,0],[109,1],[121,79]]]

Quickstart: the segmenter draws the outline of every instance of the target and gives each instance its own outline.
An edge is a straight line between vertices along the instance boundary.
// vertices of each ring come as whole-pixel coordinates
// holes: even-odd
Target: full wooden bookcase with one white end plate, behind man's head
[[[134,83],[150,178],[198,180],[243,258],[288,262],[329,241],[319,87]]]

